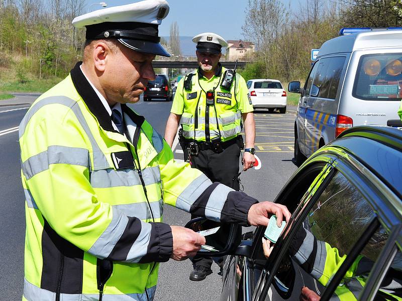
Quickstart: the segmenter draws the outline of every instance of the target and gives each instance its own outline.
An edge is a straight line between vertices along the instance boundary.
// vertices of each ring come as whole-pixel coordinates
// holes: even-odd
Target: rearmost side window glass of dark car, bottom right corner
[[[397,247],[396,247],[397,248]],[[380,287],[377,290],[375,300],[400,300],[402,298],[402,252],[397,252],[387,269]]]

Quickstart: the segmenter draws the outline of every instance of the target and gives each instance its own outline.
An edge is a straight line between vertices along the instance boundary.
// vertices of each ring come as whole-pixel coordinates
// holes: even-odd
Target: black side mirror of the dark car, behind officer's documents
[[[197,252],[200,257],[233,255],[241,241],[241,226],[236,224],[221,224],[200,217],[192,219],[184,227],[205,237],[206,244]]]

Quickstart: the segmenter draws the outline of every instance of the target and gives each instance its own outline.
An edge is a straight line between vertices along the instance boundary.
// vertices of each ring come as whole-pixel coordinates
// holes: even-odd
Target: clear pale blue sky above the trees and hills
[[[133,0],[103,0],[108,7],[130,4]],[[247,0],[167,0],[169,15],[159,26],[159,36],[170,35],[170,25],[177,22],[180,36],[195,36],[214,32],[225,40],[244,40],[242,26],[245,20]],[[284,9],[291,0],[282,0]],[[87,7],[95,1],[87,0]],[[100,9],[92,5],[92,10]]]

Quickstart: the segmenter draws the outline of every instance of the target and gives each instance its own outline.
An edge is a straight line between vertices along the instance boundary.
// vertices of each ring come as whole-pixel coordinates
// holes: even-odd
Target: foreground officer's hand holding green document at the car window
[[[247,222],[251,226],[267,226],[271,215],[276,215],[276,224],[282,225],[282,219],[285,217],[286,223],[289,222],[290,212],[286,206],[272,202],[261,202],[250,207],[247,216]]]

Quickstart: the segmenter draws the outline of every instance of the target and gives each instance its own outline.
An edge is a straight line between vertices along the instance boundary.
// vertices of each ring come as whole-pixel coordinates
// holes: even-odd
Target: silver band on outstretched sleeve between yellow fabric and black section
[[[204,173],[199,175],[177,197],[176,208],[190,212],[191,205],[211,185],[211,180]]]

